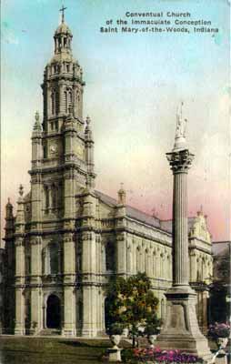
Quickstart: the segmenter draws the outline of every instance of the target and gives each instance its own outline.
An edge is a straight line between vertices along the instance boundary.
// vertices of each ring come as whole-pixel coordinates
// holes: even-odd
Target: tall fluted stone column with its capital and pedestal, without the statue
[[[194,156],[187,147],[178,147],[176,143],[166,157],[174,175],[173,287],[166,292],[166,320],[157,345],[161,349],[182,349],[209,360],[207,340],[196,319],[196,292],[188,283],[187,172]]]

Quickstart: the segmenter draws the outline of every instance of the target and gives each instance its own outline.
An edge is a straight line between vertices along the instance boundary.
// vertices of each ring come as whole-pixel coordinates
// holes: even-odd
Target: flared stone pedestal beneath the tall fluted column
[[[156,339],[161,349],[181,349],[208,361],[212,358],[207,339],[196,319],[196,292],[171,288],[166,293],[166,322]]]

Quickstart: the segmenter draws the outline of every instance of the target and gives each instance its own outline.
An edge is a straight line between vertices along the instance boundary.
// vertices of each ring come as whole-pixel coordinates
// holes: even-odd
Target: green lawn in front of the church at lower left
[[[96,364],[111,346],[97,339],[0,337],[1,364]]]

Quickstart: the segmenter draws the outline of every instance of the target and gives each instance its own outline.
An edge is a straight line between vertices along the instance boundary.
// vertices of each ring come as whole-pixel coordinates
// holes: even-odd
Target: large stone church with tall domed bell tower
[[[32,133],[31,190],[6,205],[1,327],[15,335],[95,337],[105,332],[106,285],[112,276],[145,271],[165,319],[172,282],[171,221],[146,215],[95,190],[94,138],[83,118],[83,71],[72,55],[64,19],[45,66],[43,120]],[[167,171],[166,171],[167,173]],[[206,329],[212,276],[211,238],[202,211],[189,218],[190,282]]]

